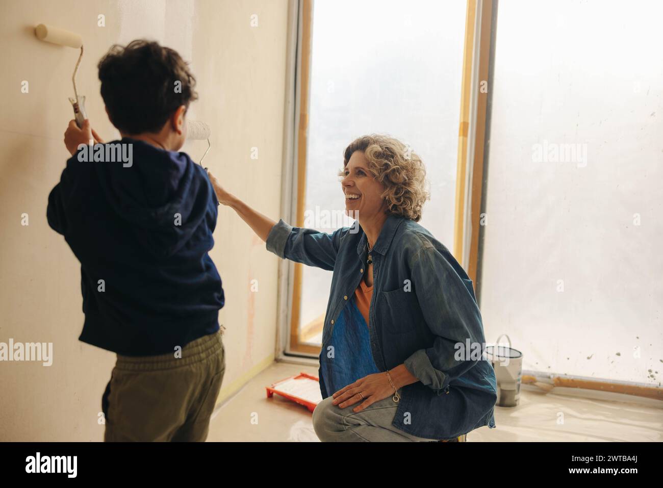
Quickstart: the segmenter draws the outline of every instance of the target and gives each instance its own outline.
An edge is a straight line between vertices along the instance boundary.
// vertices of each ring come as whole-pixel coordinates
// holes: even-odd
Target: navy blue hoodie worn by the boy
[[[67,161],[48,224],[81,263],[79,339],[122,355],[172,353],[219,330],[223,288],[208,255],[217,198],[187,154],[117,143],[133,144],[131,166]]]

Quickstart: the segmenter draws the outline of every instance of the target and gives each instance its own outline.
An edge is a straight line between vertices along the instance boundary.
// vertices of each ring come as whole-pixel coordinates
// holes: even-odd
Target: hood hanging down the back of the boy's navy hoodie
[[[141,245],[156,257],[170,257],[204,225],[213,193],[207,174],[186,153],[129,137],[107,145],[118,143],[131,144],[131,152],[125,149],[130,165],[93,163],[105,199]]]

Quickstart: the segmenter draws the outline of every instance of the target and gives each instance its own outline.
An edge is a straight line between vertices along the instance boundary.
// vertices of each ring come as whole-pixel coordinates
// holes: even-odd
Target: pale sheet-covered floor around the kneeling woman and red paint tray
[[[319,442],[304,406],[265,387],[317,366],[272,363],[217,407],[208,442]],[[634,396],[556,388],[542,393],[522,385],[516,408],[495,408],[497,428],[481,427],[467,442],[661,442],[663,402]]]

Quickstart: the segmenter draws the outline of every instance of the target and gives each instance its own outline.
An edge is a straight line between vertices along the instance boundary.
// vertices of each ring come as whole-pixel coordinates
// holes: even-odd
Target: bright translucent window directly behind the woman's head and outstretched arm
[[[350,225],[341,220],[343,151],[356,137],[387,133],[426,164],[431,200],[420,223],[452,249],[466,9],[460,1],[313,3],[311,38],[304,26],[299,42],[310,42],[310,71],[298,79],[308,88],[308,105],[300,102],[308,118],[302,227],[331,233]],[[312,352],[322,341],[331,272],[295,267],[290,350]]]

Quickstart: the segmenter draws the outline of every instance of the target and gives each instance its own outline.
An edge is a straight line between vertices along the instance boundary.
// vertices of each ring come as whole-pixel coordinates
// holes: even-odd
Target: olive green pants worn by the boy
[[[221,331],[180,353],[117,355],[101,400],[105,442],[206,440],[225,373]]]

